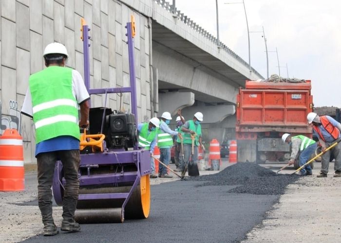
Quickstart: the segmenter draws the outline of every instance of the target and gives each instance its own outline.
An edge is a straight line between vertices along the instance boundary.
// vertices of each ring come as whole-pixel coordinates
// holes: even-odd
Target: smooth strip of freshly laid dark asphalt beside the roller
[[[149,218],[122,224],[81,225],[77,233],[24,242],[240,242],[260,224],[278,195],[229,193],[236,186],[195,187],[202,182],[174,181],[151,186]]]

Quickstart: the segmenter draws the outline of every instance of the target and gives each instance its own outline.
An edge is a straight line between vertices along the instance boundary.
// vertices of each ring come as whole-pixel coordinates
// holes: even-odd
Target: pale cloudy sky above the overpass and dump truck
[[[170,3],[172,0],[169,0]],[[176,8],[217,36],[215,0],[176,0]],[[218,0],[219,37],[248,63],[246,17],[242,0]],[[269,76],[311,80],[315,107],[341,107],[341,0],[244,0],[250,35],[251,66]],[[277,62],[276,48],[279,63]],[[287,65],[287,69],[286,69]]]

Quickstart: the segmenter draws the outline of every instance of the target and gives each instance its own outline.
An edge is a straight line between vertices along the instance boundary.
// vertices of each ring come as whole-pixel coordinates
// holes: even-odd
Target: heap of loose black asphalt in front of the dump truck
[[[280,195],[288,184],[294,183],[299,175],[276,174],[255,163],[238,162],[217,174],[192,177],[192,180],[204,181],[199,186],[237,185],[228,192],[250,193],[257,195]]]

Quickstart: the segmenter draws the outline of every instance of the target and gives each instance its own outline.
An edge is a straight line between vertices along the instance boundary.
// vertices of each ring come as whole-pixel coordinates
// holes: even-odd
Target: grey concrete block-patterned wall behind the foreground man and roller
[[[33,123],[20,115],[29,76],[44,68],[43,50],[54,41],[65,44],[70,55],[67,66],[83,75],[81,17],[91,29],[91,86],[98,88],[129,86],[125,24],[134,15],[138,118],[151,117],[147,17],[115,0],[2,0],[0,7],[0,134],[7,128],[19,130],[25,163],[36,162]],[[104,105],[104,95],[92,96],[91,103]],[[124,94],[121,108],[130,110],[129,103],[130,95]],[[120,98],[111,94],[107,106],[119,109]]]

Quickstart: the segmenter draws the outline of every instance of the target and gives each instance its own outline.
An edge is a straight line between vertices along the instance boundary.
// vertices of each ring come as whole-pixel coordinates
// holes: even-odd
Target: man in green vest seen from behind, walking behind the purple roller
[[[47,68],[30,76],[21,113],[32,117],[36,128],[38,206],[44,236],[51,236],[58,233],[52,217],[51,186],[55,163],[59,159],[66,183],[63,185],[61,230],[80,230],[75,222],[79,190],[79,126],[87,127],[89,124],[90,96],[80,73],[65,67],[69,55],[64,45],[48,44],[43,57]]]

